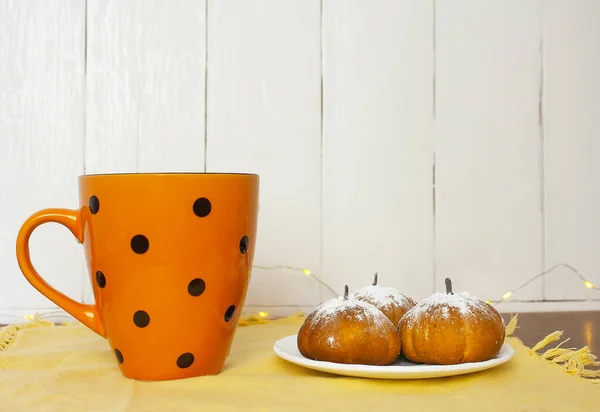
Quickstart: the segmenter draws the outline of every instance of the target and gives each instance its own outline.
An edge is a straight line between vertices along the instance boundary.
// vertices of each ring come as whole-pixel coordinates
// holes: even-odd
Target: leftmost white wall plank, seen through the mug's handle
[[[76,207],[76,176],[84,168],[84,6],[0,1],[0,314],[54,306],[20,274],[15,240],[30,214]],[[81,252],[56,224],[31,237],[39,273],[79,299],[87,280]]]

